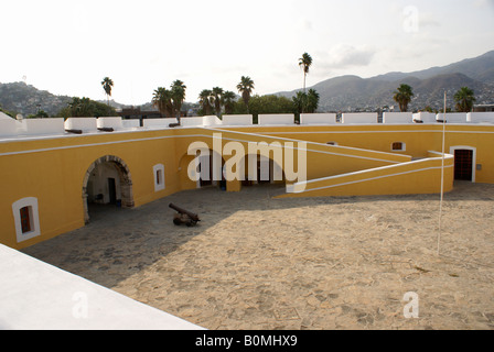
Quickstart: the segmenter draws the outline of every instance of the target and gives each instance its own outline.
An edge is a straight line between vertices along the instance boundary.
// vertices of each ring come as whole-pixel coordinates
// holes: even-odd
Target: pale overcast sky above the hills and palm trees
[[[151,101],[176,79],[254,94],[343,75],[414,72],[494,50],[494,0],[3,0],[0,82],[120,103]]]

